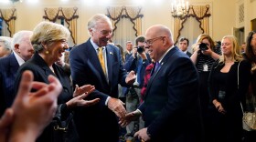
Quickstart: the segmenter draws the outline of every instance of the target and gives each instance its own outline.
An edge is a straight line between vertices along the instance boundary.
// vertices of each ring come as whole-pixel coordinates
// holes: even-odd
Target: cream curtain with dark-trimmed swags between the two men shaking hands
[[[113,25],[112,42],[120,44],[125,50],[125,43],[133,41],[136,36],[142,35],[142,7],[116,6],[108,7],[107,15]]]

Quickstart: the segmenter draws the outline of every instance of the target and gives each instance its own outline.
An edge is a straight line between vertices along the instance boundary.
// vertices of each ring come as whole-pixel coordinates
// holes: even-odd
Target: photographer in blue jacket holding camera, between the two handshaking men
[[[134,71],[136,80],[130,88],[123,87],[123,94],[126,96],[126,110],[133,112],[140,104],[141,89],[144,85],[145,67],[151,63],[150,56],[144,50],[144,36],[138,36],[135,39],[135,47],[133,47],[133,55],[125,60],[124,68],[130,72]],[[133,141],[133,135],[139,128],[144,127],[142,118],[133,121],[126,127],[126,141]]]

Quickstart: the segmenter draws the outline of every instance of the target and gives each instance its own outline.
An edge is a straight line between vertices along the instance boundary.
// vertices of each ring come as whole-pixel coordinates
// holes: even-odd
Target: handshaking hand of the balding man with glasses
[[[135,121],[136,119],[139,119],[139,117],[141,116],[142,116],[141,112],[137,109],[133,112],[126,114],[125,117],[121,118],[118,123],[120,124],[121,127],[126,127],[131,123],[131,121]]]

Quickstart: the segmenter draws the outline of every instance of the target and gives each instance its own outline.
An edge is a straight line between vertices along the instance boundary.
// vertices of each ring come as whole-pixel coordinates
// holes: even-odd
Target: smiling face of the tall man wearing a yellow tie
[[[104,20],[99,21],[93,28],[89,29],[91,39],[97,46],[107,46],[108,40],[112,38],[112,25]]]

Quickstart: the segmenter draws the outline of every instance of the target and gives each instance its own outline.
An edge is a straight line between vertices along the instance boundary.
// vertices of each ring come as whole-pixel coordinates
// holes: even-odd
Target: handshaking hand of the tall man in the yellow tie
[[[126,110],[124,108],[124,103],[117,98],[110,97],[108,101],[108,107],[115,113],[115,115],[119,118],[125,117]]]

